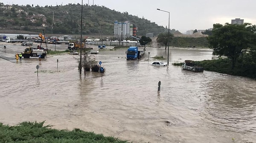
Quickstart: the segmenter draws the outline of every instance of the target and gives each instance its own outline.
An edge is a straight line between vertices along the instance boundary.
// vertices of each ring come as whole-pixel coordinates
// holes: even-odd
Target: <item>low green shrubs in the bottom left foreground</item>
[[[80,129],[57,130],[43,125],[44,121],[22,122],[17,126],[0,123],[0,143],[128,143],[116,137],[105,137]]]

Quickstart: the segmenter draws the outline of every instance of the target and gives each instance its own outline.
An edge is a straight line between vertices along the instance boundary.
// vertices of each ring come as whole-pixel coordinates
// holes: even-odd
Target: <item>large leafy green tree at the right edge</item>
[[[232,61],[233,69],[239,56],[247,48],[255,46],[255,39],[255,25],[226,23],[225,25],[213,25],[212,35],[208,37],[208,42],[209,48],[213,49],[212,54],[227,56]]]

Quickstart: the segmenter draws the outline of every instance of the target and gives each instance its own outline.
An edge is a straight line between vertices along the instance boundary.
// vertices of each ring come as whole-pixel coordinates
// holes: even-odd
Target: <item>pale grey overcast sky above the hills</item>
[[[4,4],[32,6],[56,6],[80,3],[81,0],[1,0]],[[170,12],[170,29],[182,33],[188,30],[205,30],[214,23],[231,23],[241,18],[256,25],[256,0],[83,0],[84,4],[105,6],[116,11],[144,17],[157,25],[168,27],[167,12]],[[119,20],[118,20],[119,21]],[[136,23],[135,23],[136,24]]]

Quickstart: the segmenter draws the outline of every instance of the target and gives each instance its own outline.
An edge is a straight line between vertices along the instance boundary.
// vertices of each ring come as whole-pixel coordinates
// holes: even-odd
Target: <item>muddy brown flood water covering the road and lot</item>
[[[168,67],[150,65],[156,55],[167,57],[164,48],[146,48],[137,61],[126,61],[126,49],[100,50],[92,56],[102,62],[105,73],[84,76],[75,59],[79,56],[15,62],[14,54],[24,47],[6,47],[0,43],[0,56],[13,60],[0,58],[4,124],[46,121],[56,129],[79,128],[133,143],[256,143],[255,80],[172,65],[212,59],[211,50],[170,48]],[[48,48],[55,50],[54,45]]]

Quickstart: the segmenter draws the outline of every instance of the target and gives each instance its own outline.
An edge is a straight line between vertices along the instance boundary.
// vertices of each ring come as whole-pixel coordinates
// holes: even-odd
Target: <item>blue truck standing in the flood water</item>
[[[145,51],[138,50],[138,47],[129,47],[125,53],[127,55],[126,60],[129,60],[129,59],[137,60],[137,59],[140,59],[145,54]]]

